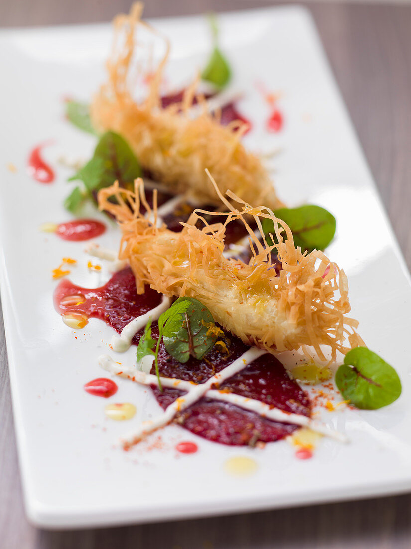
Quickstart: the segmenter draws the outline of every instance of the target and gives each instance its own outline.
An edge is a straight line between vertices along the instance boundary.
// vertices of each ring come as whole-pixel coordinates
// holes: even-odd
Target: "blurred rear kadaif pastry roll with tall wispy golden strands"
[[[200,100],[199,115],[190,110],[197,81],[187,88],[182,103],[161,107],[159,87],[169,54],[167,52],[152,76],[147,98],[136,103],[130,87],[139,81],[135,59],[137,30],[142,4],[134,4],[129,15],[118,15],[113,24],[115,40],[107,61],[109,80],[101,86],[90,107],[93,125],[99,131],[118,132],[128,141],[142,167],[174,193],[184,193],[196,203],[220,204],[205,173],[208,168],[219,181],[220,190],[228,189],[249,204],[266,204],[271,209],[282,205],[260,159],[247,152],[240,140],[247,125],[239,121],[223,127],[219,115],[207,111]],[[141,72],[141,69],[140,69]],[[137,73],[137,74],[136,74]]]

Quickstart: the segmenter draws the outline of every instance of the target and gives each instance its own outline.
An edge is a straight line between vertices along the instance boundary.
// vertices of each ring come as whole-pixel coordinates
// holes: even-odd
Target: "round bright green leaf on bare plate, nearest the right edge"
[[[343,397],[362,410],[382,408],[401,395],[395,369],[366,347],[347,352],[335,383]]]

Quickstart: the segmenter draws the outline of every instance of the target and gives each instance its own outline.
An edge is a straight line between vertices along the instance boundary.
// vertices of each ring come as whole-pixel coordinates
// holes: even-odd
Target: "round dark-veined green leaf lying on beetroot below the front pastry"
[[[179,298],[171,309],[173,307],[179,307],[179,311],[165,323],[165,349],[182,364],[187,362],[190,356],[201,360],[216,341],[214,334],[207,335],[209,324],[214,324],[212,314],[206,306],[193,298]]]

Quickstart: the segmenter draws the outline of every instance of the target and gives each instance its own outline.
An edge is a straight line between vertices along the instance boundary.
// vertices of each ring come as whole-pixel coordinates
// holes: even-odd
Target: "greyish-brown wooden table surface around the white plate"
[[[272,2],[151,0],[147,16],[246,9]],[[125,0],[0,3],[0,25],[108,21]],[[309,3],[376,184],[411,266],[411,7]],[[378,236],[376,235],[376,238]],[[0,321],[2,549],[268,549],[411,547],[411,495],[121,528],[45,531],[22,505],[7,353]]]

